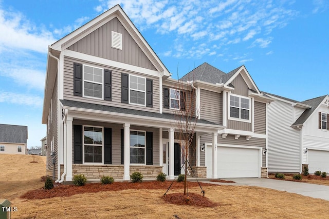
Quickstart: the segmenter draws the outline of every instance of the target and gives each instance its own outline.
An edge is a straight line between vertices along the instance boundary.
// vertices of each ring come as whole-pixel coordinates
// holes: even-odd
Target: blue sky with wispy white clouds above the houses
[[[48,45],[120,4],[173,77],[204,62],[245,65],[260,90],[329,94],[329,1],[0,0],[0,123],[41,145]]]

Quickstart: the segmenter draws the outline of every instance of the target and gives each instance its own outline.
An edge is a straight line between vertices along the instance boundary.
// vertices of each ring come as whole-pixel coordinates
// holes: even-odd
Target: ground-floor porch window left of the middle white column
[[[84,126],[84,163],[103,163],[103,128]]]

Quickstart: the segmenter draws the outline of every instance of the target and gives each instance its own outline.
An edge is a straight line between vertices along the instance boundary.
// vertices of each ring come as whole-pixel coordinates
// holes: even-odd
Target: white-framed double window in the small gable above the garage
[[[250,98],[230,95],[230,119],[250,122]]]

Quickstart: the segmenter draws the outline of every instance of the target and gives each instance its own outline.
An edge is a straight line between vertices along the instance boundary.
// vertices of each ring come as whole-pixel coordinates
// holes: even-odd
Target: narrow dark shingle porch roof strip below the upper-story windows
[[[90,103],[83,103],[78,101],[69,101],[67,99],[61,99],[61,103],[67,107],[75,107],[81,109],[91,109],[91,110],[99,110],[105,112],[116,112],[116,113],[123,113],[123,114],[130,114],[130,115],[140,115],[140,116],[148,116],[154,118],[165,118],[167,120],[176,120],[176,116],[170,113],[155,113],[155,112],[148,112],[142,110],[134,110],[134,109],[126,109],[120,107],[112,107],[112,106],[104,106],[99,104],[90,104]],[[150,118],[152,120],[152,118]],[[197,120],[197,123],[200,124],[209,124],[209,125],[219,125],[216,123],[209,122],[207,120]]]

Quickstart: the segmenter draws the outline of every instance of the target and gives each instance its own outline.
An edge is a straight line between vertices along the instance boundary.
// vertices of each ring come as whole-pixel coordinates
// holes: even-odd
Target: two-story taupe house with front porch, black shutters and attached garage
[[[47,174],[173,179],[184,163],[175,114],[192,109],[197,177],[266,177],[270,101],[244,66],[226,74],[205,63],[171,78],[117,5],[48,48]]]

